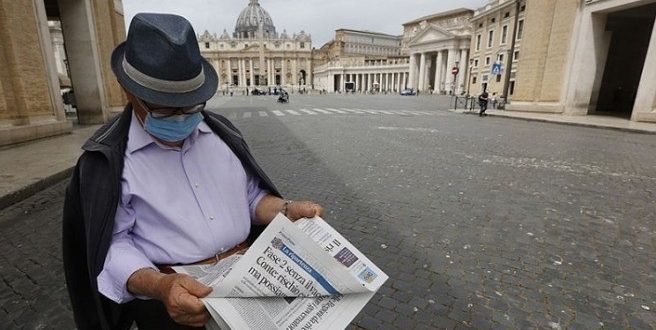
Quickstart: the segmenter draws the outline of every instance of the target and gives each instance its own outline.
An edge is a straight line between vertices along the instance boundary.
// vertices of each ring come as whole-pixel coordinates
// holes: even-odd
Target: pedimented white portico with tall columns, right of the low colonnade
[[[403,24],[402,52],[409,56],[409,88],[464,92],[473,14],[473,10],[461,8]]]

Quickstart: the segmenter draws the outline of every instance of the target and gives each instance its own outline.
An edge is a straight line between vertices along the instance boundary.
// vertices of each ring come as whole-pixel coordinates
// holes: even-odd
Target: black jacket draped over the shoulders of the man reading
[[[280,193],[250,153],[241,133],[225,117],[203,112],[205,123],[237,155],[244,169],[260,178],[260,186]],[[66,189],[63,218],[63,260],[66,285],[78,329],[127,329],[132,318],[124,305],[98,292],[96,278],[103,269],[112,239],[114,216],[132,107],[100,128],[82,147]],[[208,166],[210,166],[208,164]],[[252,228],[251,234],[262,228]]]

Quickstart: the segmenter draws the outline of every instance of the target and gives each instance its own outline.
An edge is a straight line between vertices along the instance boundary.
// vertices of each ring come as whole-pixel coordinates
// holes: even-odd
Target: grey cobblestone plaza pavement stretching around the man
[[[294,94],[209,108],[285,197],[321,203],[390,276],[352,328],[656,328],[654,136],[480,118],[449,101]],[[74,328],[65,185],[0,210],[0,329]]]

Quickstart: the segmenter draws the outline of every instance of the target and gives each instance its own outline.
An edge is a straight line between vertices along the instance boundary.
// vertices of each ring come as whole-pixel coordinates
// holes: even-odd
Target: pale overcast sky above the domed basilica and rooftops
[[[208,30],[232,35],[239,13],[249,0],[123,0],[126,28],[138,12],[175,13],[186,17],[197,33]],[[394,35],[401,24],[455,8],[476,9],[487,0],[260,0],[276,30],[289,35],[304,30],[319,48],[334,37],[335,30],[349,28]]]

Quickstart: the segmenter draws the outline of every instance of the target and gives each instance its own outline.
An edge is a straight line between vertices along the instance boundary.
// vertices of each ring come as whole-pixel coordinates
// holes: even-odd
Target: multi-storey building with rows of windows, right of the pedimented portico
[[[490,95],[501,96],[506,92],[508,99],[512,99],[526,24],[525,12],[524,0],[489,0],[474,12],[468,94],[477,95],[487,90]]]

